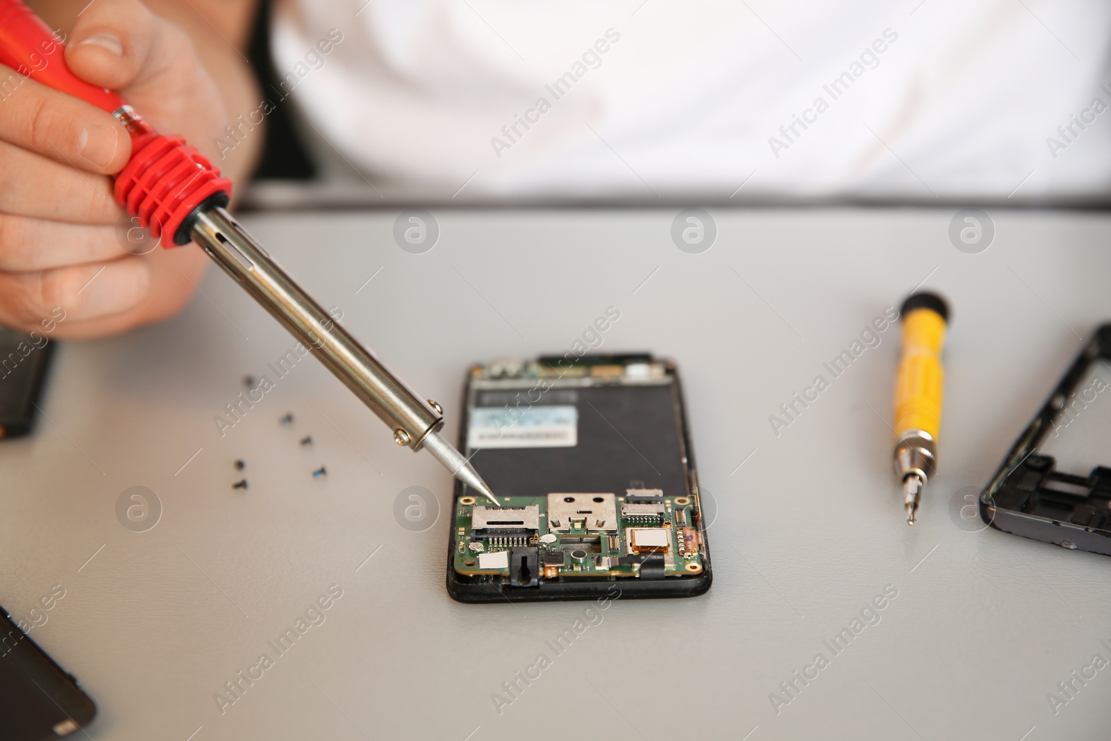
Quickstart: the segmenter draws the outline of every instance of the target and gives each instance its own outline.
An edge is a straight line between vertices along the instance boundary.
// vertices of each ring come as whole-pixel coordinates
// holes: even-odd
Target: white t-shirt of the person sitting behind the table
[[[1098,0],[278,0],[272,31],[286,82],[270,100],[292,90],[313,147],[371,182],[472,198],[1111,193]]]

